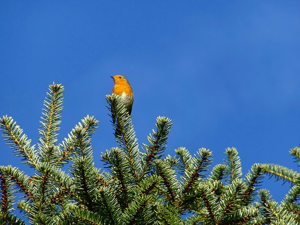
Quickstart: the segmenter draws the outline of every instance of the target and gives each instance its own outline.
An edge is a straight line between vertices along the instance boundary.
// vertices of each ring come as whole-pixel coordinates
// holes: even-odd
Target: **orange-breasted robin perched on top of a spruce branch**
[[[116,75],[111,76],[113,78],[113,81],[115,82],[115,86],[113,87],[112,94],[119,95],[121,97],[121,100],[125,106],[126,111],[128,112],[129,116],[131,115],[132,110],[132,104],[134,100],[134,93],[133,90],[125,76],[122,75]],[[113,122],[114,118],[113,118]],[[120,136],[120,133],[117,132],[118,128],[116,129],[116,135]]]

